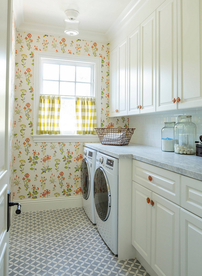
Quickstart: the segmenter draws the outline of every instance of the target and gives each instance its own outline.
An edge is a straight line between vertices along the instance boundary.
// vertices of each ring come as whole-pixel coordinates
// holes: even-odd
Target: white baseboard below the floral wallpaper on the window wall
[[[82,207],[82,196],[65,198],[36,198],[19,201],[21,212],[45,211]]]

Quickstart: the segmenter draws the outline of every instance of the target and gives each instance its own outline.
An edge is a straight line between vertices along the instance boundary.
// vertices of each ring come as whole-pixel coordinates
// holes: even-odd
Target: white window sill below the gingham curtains
[[[32,135],[34,142],[99,142],[98,135],[92,134],[75,134],[75,135],[51,135],[41,134]]]

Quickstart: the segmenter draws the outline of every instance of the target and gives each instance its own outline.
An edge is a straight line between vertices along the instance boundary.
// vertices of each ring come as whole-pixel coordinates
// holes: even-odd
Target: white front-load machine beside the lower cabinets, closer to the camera
[[[118,159],[97,152],[94,174],[97,229],[114,254],[118,254]]]

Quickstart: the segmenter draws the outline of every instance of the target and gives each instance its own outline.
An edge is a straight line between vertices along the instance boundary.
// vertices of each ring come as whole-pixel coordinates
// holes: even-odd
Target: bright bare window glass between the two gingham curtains
[[[59,127],[62,131],[68,132],[69,134],[76,133],[76,107],[75,98],[64,98],[61,97],[61,108],[60,108],[60,122]]]

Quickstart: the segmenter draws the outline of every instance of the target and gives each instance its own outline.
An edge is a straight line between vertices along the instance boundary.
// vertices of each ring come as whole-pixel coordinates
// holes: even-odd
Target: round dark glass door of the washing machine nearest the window
[[[88,199],[91,189],[91,177],[88,161],[86,158],[84,158],[81,163],[81,187],[83,198]]]

